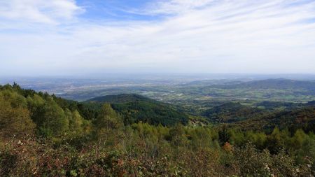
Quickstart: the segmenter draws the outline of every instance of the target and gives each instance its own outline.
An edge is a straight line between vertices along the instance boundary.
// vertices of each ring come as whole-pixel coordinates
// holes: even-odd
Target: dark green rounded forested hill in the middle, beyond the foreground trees
[[[125,124],[148,122],[152,125],[188,124],[188,115],[177,111],[174,106],[138,94],[113,94],[85,101],[89,104],[109,103],[123,115]]]

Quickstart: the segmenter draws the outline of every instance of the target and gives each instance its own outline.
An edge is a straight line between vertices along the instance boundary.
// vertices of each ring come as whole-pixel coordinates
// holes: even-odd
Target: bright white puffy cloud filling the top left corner
[[[71,20],[83,8],[73,0],[10,0],[0,1],[0,17],[23,22],[57,24]]]

